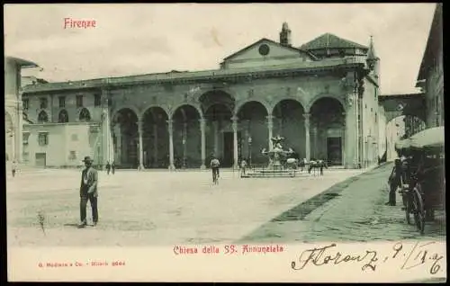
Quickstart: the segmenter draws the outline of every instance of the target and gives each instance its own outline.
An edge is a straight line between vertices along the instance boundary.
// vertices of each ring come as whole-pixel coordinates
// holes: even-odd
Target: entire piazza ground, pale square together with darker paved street
[[[404,222],[401,198],[397,207],[384,206],[391,167],[366,174],[334,169],[324,176],[258,179],[241,179],[238,172],[224,170],[215,186],[210,170],[119,170],[109,176],[101,171],[99,225],[83,229],[76,228],[79,170],[23,172],[7,178],[8,245],[445,239],[445,220],[443,228],[431,223],[426,235],[419,236]],[[87,214],[91,219],[89,205]]]

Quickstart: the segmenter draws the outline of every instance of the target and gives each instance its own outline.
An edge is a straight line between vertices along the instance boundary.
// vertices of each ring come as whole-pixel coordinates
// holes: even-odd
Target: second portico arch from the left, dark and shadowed
[[[169,165],[168,115],[161,106],[151,106],[141,116],[142,159],[146,168],[166,168]]]

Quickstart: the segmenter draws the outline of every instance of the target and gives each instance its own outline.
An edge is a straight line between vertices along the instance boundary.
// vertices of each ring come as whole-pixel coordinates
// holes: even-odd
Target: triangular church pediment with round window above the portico
[[[302,49],[296,49],[277,43],[274,40],[261,39],[257,42],[247,46],[244,49],[238,50],[236,53],[224,58],[224,61],[246,61],[246,60],[264,60],[270,58],[303,58],[311,59],[308,52]]]

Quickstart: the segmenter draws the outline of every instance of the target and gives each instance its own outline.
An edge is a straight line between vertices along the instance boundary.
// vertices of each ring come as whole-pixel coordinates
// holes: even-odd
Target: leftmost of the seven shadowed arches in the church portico
[[[122,168],[139,165],[138,115],[129,108],[121,108],[112,117],[114,163]]]

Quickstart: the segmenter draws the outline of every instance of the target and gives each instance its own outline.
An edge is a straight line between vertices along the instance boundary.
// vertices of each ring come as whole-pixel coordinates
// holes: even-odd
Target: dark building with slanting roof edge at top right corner
[[[440,3],[436,4],[416,85],[425,93],[428,128],[445,125],[443,35],[442,3]]]

